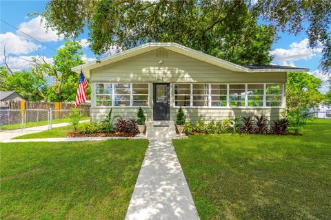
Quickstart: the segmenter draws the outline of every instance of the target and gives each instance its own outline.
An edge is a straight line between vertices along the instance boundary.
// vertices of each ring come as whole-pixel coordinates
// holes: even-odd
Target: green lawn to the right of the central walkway
[[[312,122],[302,136],[173,142],[201,219],[331,217],[331,120]]]

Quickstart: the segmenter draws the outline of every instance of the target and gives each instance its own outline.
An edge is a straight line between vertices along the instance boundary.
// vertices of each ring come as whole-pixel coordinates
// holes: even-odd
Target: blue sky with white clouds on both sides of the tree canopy
[[[46,1],[2,1],[1,0],[1,19],[10,23],[10,25],[19,28],[38,39],[34,41],[29,37],[17,32],[6,23],[0,23],[1,34],[1,63],[3,63],[3,45],[6,45],[6,54],[9,56],[8,65],[14,70],[26,69],[30,56],[45,56],[46,61],[52,62],[52,56],[61,45],[63,38],[58,39],[56,32],[50,31],[46,33],[43,25],[40,25],[41,17],[28,17],[31,12],[42,12],[45,8]],[[307,48],[307,36],[303,32],[298,36],[279,33],[281,39],[272,45],[271,53],[274,54],[275,65],[292,65],[296,67],[306,67],[310,69],[310,73],[327,80],[328,77],[322,75],[319,70],[319,59],[321,58],[321,47],[316,50]],[[79,36],[83,46],[84,58],[87,61],[92,60],[94,54],[88,48],[88,33],[85,32]],[[52,48],[52,49],[50,49]],[[323,83],[321,91],[327,91],[327,83]]]

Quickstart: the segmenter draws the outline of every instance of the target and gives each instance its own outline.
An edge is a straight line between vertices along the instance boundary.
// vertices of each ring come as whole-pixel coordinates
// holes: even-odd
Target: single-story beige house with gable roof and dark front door
[[[285,108],[286,72],[309,69],[237,65],[177,43],[146,43],[72,68],[92,83],[91,119],[113,115],[176,120],[179,107],[188,121],[244,115],[279,118]]]

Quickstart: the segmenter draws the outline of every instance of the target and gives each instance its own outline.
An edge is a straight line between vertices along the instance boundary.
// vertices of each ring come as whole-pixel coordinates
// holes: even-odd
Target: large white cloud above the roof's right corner
[[[314,49],[308,48],[308,39],[304,39],[299,43],[291,43],[290,49],[277,48],[272,50],[270,54],[274,55],[274,61],[278,61],[280,65],[294,66],[294,61],[309,60],[317,56],[321,51],[321,45]]]

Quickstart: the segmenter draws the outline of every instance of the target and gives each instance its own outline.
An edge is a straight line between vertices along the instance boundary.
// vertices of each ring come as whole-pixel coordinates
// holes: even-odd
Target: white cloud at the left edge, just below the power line
[[[0,50],[3,52],[3,47],[6,46],[6,54],[29,54],[30,52],[37,51],[41,48],[41,45],[37,45],[32,41],[27,41],[26,39],[13,34],[12,32],[6,32],[5,34],[0,34]]]

